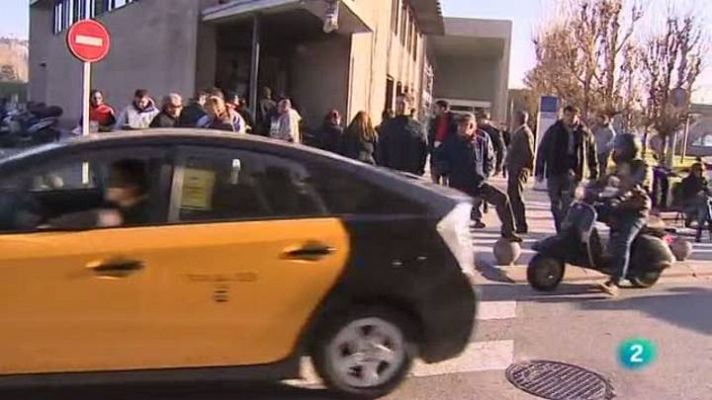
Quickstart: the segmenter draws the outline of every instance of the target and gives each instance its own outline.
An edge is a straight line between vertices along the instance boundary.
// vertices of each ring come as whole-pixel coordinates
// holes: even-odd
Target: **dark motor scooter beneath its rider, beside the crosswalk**
[[[612,276],[612,257],[596,227],[602,203],[589,199],[574,201],[561,232],[534,245],[537,254],[527,268],[527,281],[538,291],[555,290],[564,277],[566,264]],[[626,279],[636,288],[654,286],[662,272],[672,267],[674,256],[664,228],[644,227],[633,242]]]

